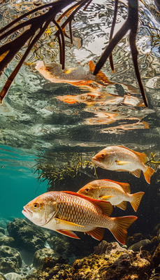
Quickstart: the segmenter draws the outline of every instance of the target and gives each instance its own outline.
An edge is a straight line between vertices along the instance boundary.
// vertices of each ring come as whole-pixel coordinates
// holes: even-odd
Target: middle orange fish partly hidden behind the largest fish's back
[[[134,211],[137,211],[145,193],[130,194],[129,183],[120,183],[108,179],[94,180],[78,190],[78,193],[94,200],[106,200],[110,204],[126,210],[126,202],[130,202]]]

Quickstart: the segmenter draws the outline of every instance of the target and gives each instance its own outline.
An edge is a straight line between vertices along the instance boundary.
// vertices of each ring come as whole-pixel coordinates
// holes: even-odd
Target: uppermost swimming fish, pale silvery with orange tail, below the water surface
[[[94,155],[92,162],[103,169],[130,172],[138,178],[140,178],[142,170],[145,180],[149,184],[150,177],[154,174],[154,169],[145,166],[145,162],[147,162],[145,153],[138,153],[124,146],[109,146],[104,148]]]

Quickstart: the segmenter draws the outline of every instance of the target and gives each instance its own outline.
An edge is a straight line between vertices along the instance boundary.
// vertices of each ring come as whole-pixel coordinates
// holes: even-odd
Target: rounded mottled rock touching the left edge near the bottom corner
[[[20,272],[22,259],[20,253],[9,246],[0,246],[0,271],[3,273]]]

